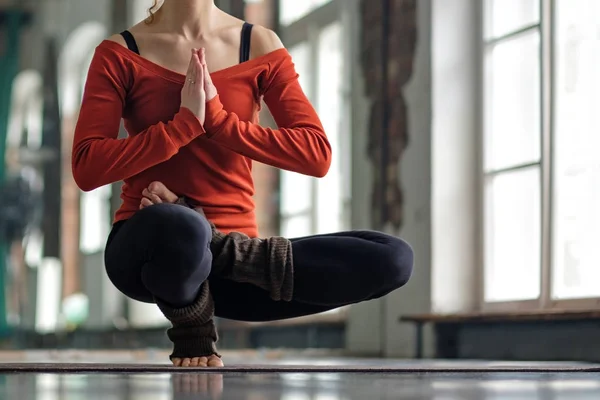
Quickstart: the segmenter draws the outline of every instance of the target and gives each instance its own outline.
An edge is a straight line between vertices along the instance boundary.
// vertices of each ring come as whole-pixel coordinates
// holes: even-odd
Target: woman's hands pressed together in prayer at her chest
[[[206,103],[216,95],[217,88],[212,82],[206,65],[206,51],[203,48],[192,49],[185,84],[181,90],[181,107],[190,110],[200,123],[204,123]]]

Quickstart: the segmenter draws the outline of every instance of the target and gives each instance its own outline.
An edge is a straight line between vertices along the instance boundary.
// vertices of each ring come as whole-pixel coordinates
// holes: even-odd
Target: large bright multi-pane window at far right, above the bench
[[[485,1],[484,307],[600,297],[599,12]]]

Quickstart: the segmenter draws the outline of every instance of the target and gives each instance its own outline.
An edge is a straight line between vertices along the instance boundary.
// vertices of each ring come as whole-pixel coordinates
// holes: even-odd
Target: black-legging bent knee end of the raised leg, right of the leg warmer
[[[348,231],[292,240],[294,298],[344,305],[381,297],[412,273],[412,249],[400,238]]]

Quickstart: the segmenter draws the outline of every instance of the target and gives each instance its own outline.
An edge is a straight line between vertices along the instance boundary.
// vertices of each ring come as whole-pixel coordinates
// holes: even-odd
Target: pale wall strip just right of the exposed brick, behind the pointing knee
[[[398,323],[398,317],[431,310],[431,1],[417,4],[414,74],[405,87],[410,142],[400,166],[406,199],[399,232],[413,247],[415,269],[408,285],[384,300],[383,354],[389,357],[413,354],[413,327]]]

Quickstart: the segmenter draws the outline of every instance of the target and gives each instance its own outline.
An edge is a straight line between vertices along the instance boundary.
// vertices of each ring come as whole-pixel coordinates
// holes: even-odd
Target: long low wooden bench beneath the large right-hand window
[[[600,319],[600,309],[596,310],[543,310],[543,311],[518,311],[518,312],[490,312],[490,313],[461,313],[461,314],[418,314],[405,315],[399,318],[400,322],[414,323],[417,332],[415,338],[415,357],[423,358],[423,327],[425,324],[436,326],[437,334],[449,332],[457,325],[462,324],[492,324],[492,323],[518,323],[537,321],[581,321]]]

